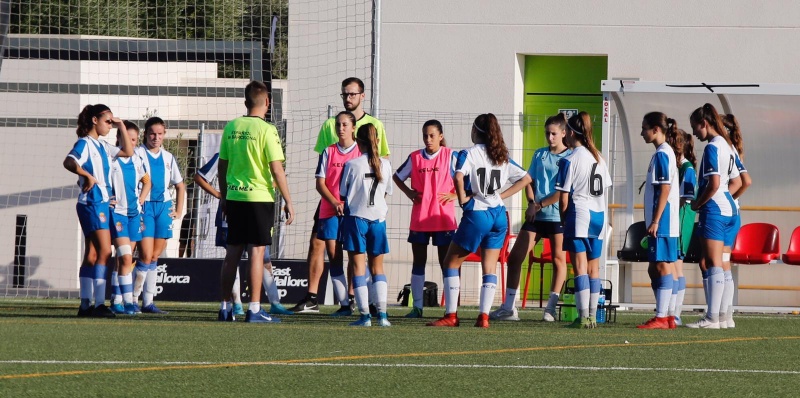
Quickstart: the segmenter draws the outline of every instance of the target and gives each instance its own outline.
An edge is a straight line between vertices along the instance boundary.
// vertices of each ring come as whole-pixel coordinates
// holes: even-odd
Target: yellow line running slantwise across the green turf
[[[57,377],[57,376],[79,376],[87,374],[101,374],[101,373],[130,373],[130,372],[152,372],[164,370],[190,370],[190,369],[213,369],[213,368],[233,368],[243,366],[267,366],[274,364],[286,363],[305,363],[305,362],[331,362],[331,361],[352,361],[363,359],[387,359],[387,358],[413,358],[413,357],[435,357],[435,356],[450,356],[450,355],[482,355],[482,354],[505,354],[517,352],[531,352],[531,351],[547,351],[547,350],[567,350],[567,349],[589,349],[589,348],[614,348],[614,347],[658,347],[658,346],[675,346],[675,345],[689,345],[689,344],[707,344],[707,343],[735,343],[744,341],[764,341],[764,340],[795,340],[800,339],[800,336],[784,336],[784,337],[737,337],[729,339],[715,339],[715,340],[699,340],[699,341],[671,341],[671,342],[654,342],[654,343],[617,343],[617,344],[594,344],[594,345],[575,345],[575,346],[555,346],[555,347],[523,347],[523,348],[503,348],[496,350],[477,350],[477,351],[443,351],[443,352],[410,352],[403,354],[370,354],[370,355],[349,355],[349,356],[336,356],[336,357],[322,357],[322,358],[309,358],[309,359],[290,359],[283,361],[265,361],[265,362],[247,362],[247,363],[219,363],[219,364],[197,364],[197,365],[171,365],[171,366],[150,366],[143,368],[128,368],[128,369],[93,369],[93,370],[71,370],[62,372],[49,372],[49,373],[27,373],[17,375],[2,375],[0,380],[13,380],[13,379],[31,379],[41,377]]]

